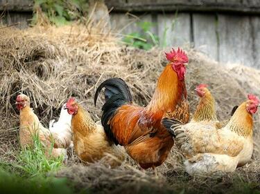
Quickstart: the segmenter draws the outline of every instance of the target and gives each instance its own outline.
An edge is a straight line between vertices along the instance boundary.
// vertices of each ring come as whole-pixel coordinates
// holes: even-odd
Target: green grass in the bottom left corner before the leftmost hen
[[[33,135],[33,146],[21,149],[14,162],[0,162],[1,193],[74,193],[66,178],[51,174],[63,166],[63,157],[48,158],[45,151],[39,137]]]

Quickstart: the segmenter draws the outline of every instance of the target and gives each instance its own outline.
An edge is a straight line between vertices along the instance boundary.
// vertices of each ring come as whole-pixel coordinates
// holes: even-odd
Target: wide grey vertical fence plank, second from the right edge
[[[254,66],[252,30],[248,16],[218,15],[219,60]]]

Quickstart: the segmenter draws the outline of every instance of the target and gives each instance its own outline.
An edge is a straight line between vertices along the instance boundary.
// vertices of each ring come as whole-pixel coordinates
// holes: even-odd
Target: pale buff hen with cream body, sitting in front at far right
[[[259,99],[248,95],[236,109],[227,125],[216,128],[210,124],[184,124],[177,119],[162,119],[162,124],[175,135],[175,141],[187,160],[187,173],[207,174],[233,172],[249,162],[253,152],[253,119]]]

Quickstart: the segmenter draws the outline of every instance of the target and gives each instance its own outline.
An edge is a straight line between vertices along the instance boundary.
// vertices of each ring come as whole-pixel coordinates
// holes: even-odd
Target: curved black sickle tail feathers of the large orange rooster
[[[105,104],[102,107],[103,115],[101,117],[101,123],[104,127],[107,137],[112,140],[116,145],[119,144],[114,137],[110,128],[109,121],[113,117],[117,108],[123,104],[132,103],[132,96],[128,85],[121,78],[111,78],[103,81],[103,83],[96,89],[94,104],[96,106],[96,99],[102,88],[105,88]]]

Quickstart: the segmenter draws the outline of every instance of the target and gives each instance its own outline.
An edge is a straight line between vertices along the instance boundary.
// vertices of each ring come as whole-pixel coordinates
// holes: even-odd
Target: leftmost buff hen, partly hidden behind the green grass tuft
[[[18,95],[15,102],[17,109],[19,110],[19,140],[21,147],[33,145],[33,135],[38,135],[40,142],[46,148],[47,157],[59,157],[64,155],[66,158],[66,145],[55,139],[55,135],[51,134],[50,130],[44,128],[40,123],[37,115],[33,113],[33,108],[30,107],[30,98],[26,95]],[[52,148],[54,144],[54,148]],[[51,149],[51,155],[49,150]]]

